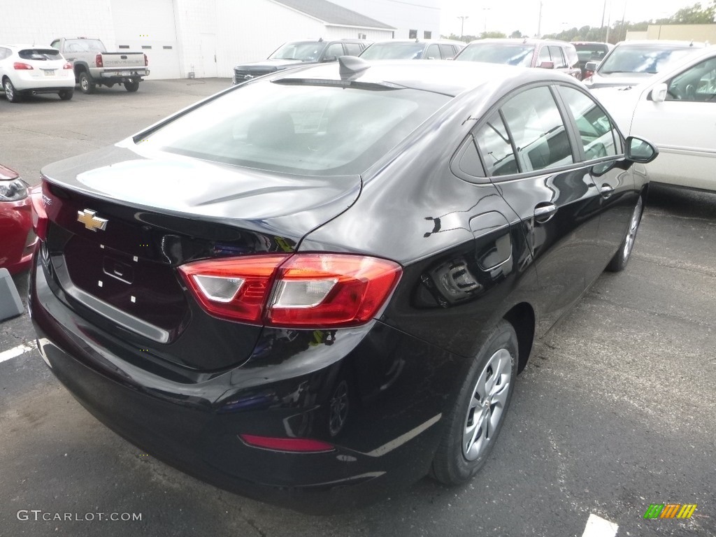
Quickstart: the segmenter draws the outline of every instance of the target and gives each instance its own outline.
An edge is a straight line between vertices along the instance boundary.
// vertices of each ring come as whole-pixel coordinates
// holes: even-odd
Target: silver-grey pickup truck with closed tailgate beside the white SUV
[[[99,39],[75,37],[55,39],[52,48],[72,62],[74,80],[82,93],[92,93],[99,85],[124,84],[128,92],[139,89],[142,77],[149,74],[147,54],[142,52],[107,52]]]

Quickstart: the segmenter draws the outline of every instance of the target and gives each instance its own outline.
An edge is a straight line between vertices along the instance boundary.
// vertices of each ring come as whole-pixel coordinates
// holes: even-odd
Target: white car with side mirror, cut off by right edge
[[[716,191],[716,47],[644,84],[592,91],[622,132],[659,148],[647,165],[652,183]]]

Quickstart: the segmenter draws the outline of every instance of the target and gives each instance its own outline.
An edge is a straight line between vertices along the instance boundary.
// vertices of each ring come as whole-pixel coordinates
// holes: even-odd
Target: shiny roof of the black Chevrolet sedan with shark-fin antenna
[[[270,79],[307,79],[312,82],[355,80],[367,84],[395,84],[427,92],[442,93],[450,97],[488,84],[517,87],[538,81],[575,82],[574,78],[560,72],[503,64],[452,62],[440,59],[431,62],[362,59],[360,61],[367,65],[367,68],[349,77],[341,77],[339,62],[335,62],[280,71]]]

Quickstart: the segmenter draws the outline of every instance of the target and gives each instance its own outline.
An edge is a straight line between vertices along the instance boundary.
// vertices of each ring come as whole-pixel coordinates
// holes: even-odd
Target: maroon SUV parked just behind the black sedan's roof
[[[455,57],[459,62],[520,65],[556,69],[581,79],[579,57],[574,45],[548,39],[478,39]]]

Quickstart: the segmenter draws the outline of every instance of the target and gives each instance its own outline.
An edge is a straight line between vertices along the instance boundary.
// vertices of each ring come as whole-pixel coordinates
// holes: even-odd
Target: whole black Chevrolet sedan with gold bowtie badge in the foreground
[[[544,69],[269,75],[42,170],[39,350],[120,435],[246,495],[462,483],[534,337],[629,260],[654,155]]]

